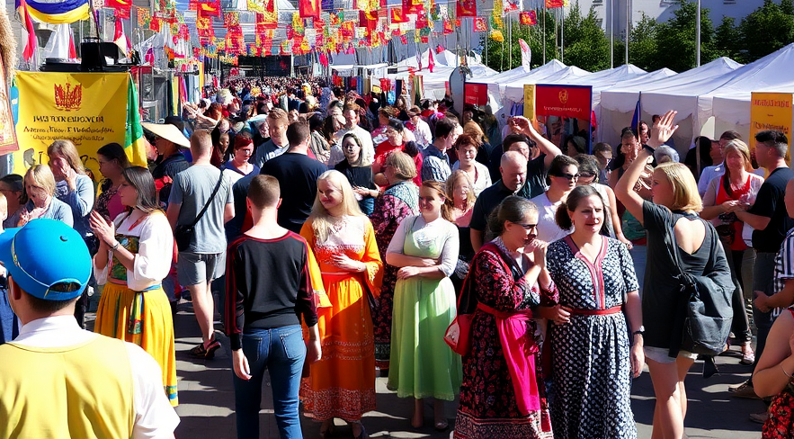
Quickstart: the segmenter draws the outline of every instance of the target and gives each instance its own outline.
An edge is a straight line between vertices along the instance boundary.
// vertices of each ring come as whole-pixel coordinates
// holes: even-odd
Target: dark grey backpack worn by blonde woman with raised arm
[[[730,282],[729,274],[725,279],[725,273],[715,270],[718,249],[714,245],[720,244],[714,238],[717,233],[714,226],[703,222],[711,229],[711,237],[706,237],[711,239],[712,244],[709,262],[704,270],[708,275],[694,275],[683,270],[675,239],[675,222],[670,226],[670,236],[673,241],[674,264],[679,271],[677,277],[681,281],[683,300],[686,300],[681,348],[693,354],[714,356],[725,350],[727,337],[730,335],[733,320],[731,294],[734,285]]]

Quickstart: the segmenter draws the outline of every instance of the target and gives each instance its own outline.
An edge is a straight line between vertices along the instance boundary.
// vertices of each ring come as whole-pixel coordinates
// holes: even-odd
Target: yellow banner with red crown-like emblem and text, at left
[[[69,139],[98,178],[96,150],[112,142],[124,146],[127,78],[126,73],[18,72],[20,151],[13,153],[13,173],[49,164],[49,145]]]

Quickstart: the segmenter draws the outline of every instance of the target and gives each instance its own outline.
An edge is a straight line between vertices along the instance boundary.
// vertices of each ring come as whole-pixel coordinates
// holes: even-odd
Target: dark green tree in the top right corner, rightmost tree
[[[775,4],[764,0],[763,5],[750,13],[739,24],[742,62],[763,58],[794,41],[794,8],[791,0]]]

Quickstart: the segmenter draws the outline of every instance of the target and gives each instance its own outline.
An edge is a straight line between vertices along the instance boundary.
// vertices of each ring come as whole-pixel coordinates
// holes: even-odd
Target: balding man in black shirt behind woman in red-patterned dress
[[[471,246],[478,252],[480,247],[490,237],[486,233],[488,229],[488,217],[505,198],[515,195],[521,191],[527,179],[527,159],[517,151],[507,151],[502,155],[502,166],[499,172],[502,179],[495,184],[486,187],[477,197],[474,208],[471,212],[470,229]]]

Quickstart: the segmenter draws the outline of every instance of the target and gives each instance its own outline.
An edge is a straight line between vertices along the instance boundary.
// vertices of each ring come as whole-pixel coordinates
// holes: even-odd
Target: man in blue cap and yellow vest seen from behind
[[[22,329],[0,345],[0,439],[173,438],[179,417],[154,358],[77,326],[91,256],[74,228],[34,219],[0,235],[8,300]]]

